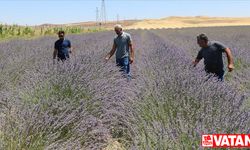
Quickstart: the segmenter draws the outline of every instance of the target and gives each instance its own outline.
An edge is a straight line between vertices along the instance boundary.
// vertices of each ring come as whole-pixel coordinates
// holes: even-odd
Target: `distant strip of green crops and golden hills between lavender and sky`
[[[212,26],[247,26],[250,18],[215,18],[215,17],[168,17],[163,19],[109,21],[105,24],[79,22],[71,24],[43,24],[39,26],[0,25],[0,40],[13,38],[33,38],[44,35],[56,35],[59,30],[67,34],[92,33],[113,30],[115,24],[122,24],[124,29],[161,29]]]

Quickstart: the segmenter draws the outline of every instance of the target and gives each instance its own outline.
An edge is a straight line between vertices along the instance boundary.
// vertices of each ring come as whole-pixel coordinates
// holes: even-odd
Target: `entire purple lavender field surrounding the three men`
[[[0,149],[202,149],[204,133],[250,133],[250,27],[127,32],[130,82],[104,61],[111,31],[68,35],[66,63],[53,64],[56,37],[0,43]],[[199,33],[231,48],[224,82],[192,66]]]

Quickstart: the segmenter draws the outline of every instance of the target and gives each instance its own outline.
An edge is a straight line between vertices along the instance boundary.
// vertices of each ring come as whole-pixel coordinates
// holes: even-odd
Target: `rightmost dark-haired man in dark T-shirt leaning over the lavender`
[[[233,71],[233,56],[228,47],[218,41],[209,41],[205,34],[197,36],[197,43],[201,47],[201,50],[193,62],[194,66],[196,66],[202,58],[204,58],[205,71],[207,73],[213,73],[220,80],[223,80],[225,71],[222,53],[225,52],[228,60],[228,71]]]

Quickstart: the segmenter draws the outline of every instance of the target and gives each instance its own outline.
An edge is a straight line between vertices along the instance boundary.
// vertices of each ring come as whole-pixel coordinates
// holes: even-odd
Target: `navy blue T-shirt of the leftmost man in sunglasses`
[[[58,50],[57,56],[60,59],[69,58],[69,48],[71,48],[71,42],[68,39],[59,39],[55,42],[55,49]]]

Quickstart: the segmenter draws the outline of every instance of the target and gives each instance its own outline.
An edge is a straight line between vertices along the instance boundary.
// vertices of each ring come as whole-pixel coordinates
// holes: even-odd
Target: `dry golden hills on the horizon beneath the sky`
[[[157,28],[184,28],[184,27],[210,27],[210,26],[245,26],[250,25],[249,18],[233,17],[167,17],[162,19],[125,20],[108,22],[103,25],[106,29],[113,29],[113,25],[120,23],[126,29],[157,29]],[[94,22],[73,23],[71,25],[96,26]]]

